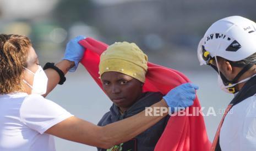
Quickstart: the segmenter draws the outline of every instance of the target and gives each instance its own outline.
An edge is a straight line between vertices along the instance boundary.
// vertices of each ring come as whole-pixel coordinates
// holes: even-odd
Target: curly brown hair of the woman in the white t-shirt
[[[0,34],[0,94],[21,91],[30,39],[16,34]]]

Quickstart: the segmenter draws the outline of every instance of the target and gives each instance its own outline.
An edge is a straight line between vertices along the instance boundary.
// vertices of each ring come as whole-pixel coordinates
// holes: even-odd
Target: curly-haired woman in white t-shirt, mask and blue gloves
[[[0,34],[0,150],[55,150],[52,136],[110,148],[137,136],[167,115],[146,117],[144,111],[101,127],[74,117],[44,98],[58,83],[63,84],[64,74],[77,68],[84,53],[78,41],[83,38],[70,40],[63,60],[55,66],[48,64],[43,71],[29,38]],[[190,106],[195,89],[198,88],[193,84],[178,86],[151,107]]]

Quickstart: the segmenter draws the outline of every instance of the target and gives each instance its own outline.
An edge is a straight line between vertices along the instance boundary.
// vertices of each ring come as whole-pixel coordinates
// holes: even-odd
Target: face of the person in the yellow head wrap
[[[120,72],[105,72],[101,82],[110,100],[123,111],[132,106],[142,94],[143,83]]]

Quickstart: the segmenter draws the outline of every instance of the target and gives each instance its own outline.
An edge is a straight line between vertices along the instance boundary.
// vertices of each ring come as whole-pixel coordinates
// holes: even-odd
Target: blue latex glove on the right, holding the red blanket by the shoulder
[[[197,85],[192,83],[184,83],[176,88],[173,88],[163,98],[171,108],[171,113],[173,113],[179,107],[186,108],[192,106],[195,100],[195,90],[198,89],[199,87]]]

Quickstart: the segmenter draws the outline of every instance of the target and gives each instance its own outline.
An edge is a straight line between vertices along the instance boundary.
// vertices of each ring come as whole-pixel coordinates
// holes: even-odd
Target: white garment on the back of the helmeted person
[[[256,94],[236,104],[220,130],[222,151],[256,150]]]

